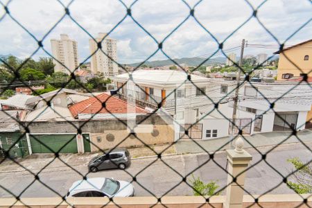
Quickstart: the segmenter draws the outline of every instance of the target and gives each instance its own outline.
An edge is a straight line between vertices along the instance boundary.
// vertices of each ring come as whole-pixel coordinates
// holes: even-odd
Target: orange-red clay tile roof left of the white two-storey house
[[[105,103],[105,107],[102,107],[102,103]],[[69,110],[73,117],[77,117],[78,114],[126,114],[128,113],[128,103],[109,94],[103,93],[89,98],[85,101],[71,105]],[[147,113],[141,107],[135,107],[135,112],[137,113]],[[132,112],[130,112],[132,113]]]

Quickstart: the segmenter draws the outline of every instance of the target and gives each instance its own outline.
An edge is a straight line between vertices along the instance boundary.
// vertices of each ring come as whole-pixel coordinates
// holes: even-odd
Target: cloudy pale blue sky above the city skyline
[[[0,1],[4,5],[7,3],[7,0]],[[64,6],[69,3],[69,1],[61,2]],[[146,60],[158,49],[155,40],[163,42],[163,51],[170,58],[186,58],[214,53],[218,49],[216,40],[225,41],[223,49],[231,49],[239,46],[243,38],[248,40],[248,44],[277,45],[278,40],[281,43],[286,41],[286,46],[291,46],[312,37],[312,3],[309,0],[264,2],[260,0],[203,0],[200,3],[193,0],[139,0],[135,3],[124,0],[122,2],[118,0],[74,0],[68,6],[71,17],[66,15],[48,35],[46,33],[64,15],[64,7],[58,1],[12,0],[8,3],[8,10],[10,15],[37,40],[42,40],[45,36],[42,43],[49,53],[51,53],[50,40],[59,39],[62,33],[76,40],[80,62],[88,60],[89,39],[91,38],[89,35],[96,37],[100,32],[111,31],[110,37],[118,40],[117,54],[118,62],[121,64]],[[125,6],[130,7],[131,4],[133,19],[126,16]],[[195,5],[194,17],[202,26],[193,17],[187,18],[190,8]],[[252,16],[252,8],[257,8],[259,5],[261,5],[257,10],[259,20],[252,17],[241,26]],[[0,17],[3,17],[5,13],[2,7]],[[83,31],[73,19],[89,34]],[[119,26],[114,28],[120,21]],[[184,23],[180,25],[182,21]],[[277,40],[261,26],[259,21]],[[306,26],[301,28],[304,24]],[[180,27],[173,31],[179,25]],[[297,31],[298,28],[301,29]],[[291,35],[293,36],[288,39]],[[18,58],[28,58],[38,47],[33,37],[8,15],[0,21],[0,45],[1,55],[12,54]],[[238,56],[239,50],[238,48],[234,51]],[[245,54],[251,55],[258,53],[272,55],[275,51],[277,48],[245,48]],[[49,55],[40,49],[33,55],[33,58],[36,60],[42,56]],[[166,56],[158,51],[149,60],[164,59],[167,59]]]

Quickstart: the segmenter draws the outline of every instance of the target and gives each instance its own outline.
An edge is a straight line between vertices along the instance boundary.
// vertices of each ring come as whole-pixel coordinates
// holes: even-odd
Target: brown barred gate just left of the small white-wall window
[[[202,123],[180,125],[180,141],[191,141],[192,139],[202,139]]]

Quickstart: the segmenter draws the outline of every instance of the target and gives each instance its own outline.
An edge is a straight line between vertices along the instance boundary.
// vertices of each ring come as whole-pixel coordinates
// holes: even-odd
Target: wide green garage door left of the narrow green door
[[[77,153],[76,135],[29,135],[33,153]]]

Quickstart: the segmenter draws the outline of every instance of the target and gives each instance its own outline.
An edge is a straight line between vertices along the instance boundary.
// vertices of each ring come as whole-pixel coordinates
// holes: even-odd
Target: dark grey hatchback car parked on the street
[[[88,164],[89,171],[120,168],[125,169],[131,164],[130,154],[125,148],[116,148],[107,150],[105,154],[96,156]]]

